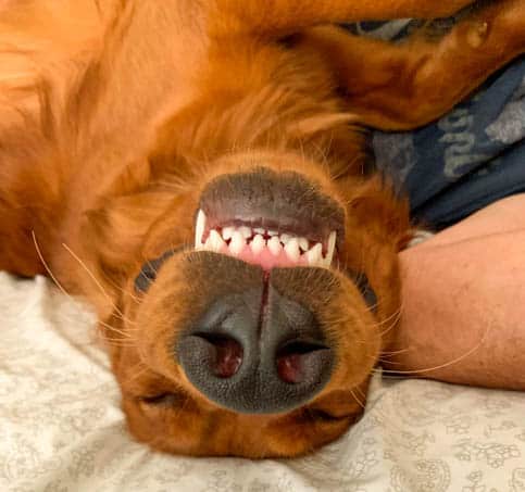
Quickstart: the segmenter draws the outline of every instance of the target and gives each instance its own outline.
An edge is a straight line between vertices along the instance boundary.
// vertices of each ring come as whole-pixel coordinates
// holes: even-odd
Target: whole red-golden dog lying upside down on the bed
[[[0,3],[0,268],[95,306],[136,439],[291,457],[360,415],[411,239],[366,128],[522,53],[525,1],[398,45],[337,25],[468,3]]]

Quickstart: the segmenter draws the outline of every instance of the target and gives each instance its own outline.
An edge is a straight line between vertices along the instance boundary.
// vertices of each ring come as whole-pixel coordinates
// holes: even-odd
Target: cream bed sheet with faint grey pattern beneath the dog
[[[376,377],[364,417],[291,461],[193,459],[135,443],[93,317],[0,274],[0,491],[525,491],[525,393]]]

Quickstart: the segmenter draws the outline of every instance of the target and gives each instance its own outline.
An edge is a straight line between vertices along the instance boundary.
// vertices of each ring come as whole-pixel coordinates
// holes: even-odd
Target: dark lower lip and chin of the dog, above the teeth
[[[303,175],[258,167],[222,175],[201,194],[210,227],[251,225],[323,242],[337,232],[337,249],[345,241],[345,211]]]

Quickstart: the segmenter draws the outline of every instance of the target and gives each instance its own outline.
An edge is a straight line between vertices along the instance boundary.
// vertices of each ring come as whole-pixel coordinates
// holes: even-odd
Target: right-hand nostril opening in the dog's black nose
[[[316,357],[316,352],[323,350],[327,350],[327,348],[302,341],[286,344],[277,353],[276,364],[279,379],[289,384],[303,382],[307,365]]]

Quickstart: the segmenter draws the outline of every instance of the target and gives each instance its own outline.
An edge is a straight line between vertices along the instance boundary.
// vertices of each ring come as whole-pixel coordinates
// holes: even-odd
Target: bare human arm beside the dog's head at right
[[[525,194],[403,251],[400,264],[399,352],[385,369],[525,390]]]

